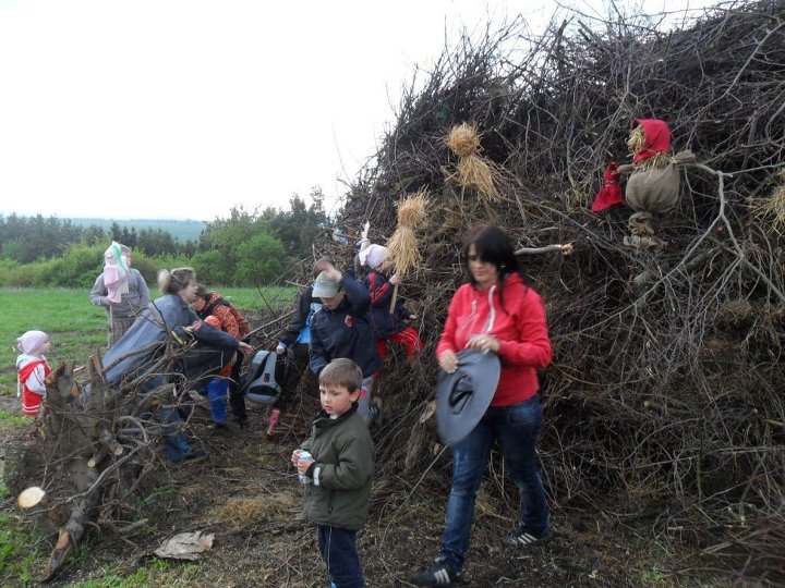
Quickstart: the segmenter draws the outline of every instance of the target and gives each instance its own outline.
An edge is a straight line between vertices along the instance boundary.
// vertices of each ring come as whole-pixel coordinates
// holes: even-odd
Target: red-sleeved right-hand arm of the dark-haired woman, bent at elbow
[[[499,340],[498,356],[510,365],[542,369],[553,359],[553,350],[547,334],[545,306],[533,290],[520,306],[516,341]]]

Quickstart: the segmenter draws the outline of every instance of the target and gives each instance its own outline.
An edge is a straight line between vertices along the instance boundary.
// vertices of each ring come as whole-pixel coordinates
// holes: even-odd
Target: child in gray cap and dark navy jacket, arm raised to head
[[[374,372],[381,360],[376,352],[376,336],[367,320],[371,297],[361,282],[345,275],[326,261],[318,265],[313,296],[324,306],[314,314],[311,323],[311,371],[318,376],[333,359],[351,359],[363,373],[358,413],[366,425],[377,420],[378,402],[372,401]]]

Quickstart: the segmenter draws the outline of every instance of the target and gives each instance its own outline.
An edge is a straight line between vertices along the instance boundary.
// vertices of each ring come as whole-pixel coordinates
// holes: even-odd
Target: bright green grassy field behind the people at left
[[[291,304],[294,287],[225,287],[221,294],[243,310],[283,309]],[[106,315],[89,304],[89,292],[72,289],[0,289],[0,395],[16,393],[19,352],[16,338],[27,330],[49,334],[52,367],[61,362],[84,364],[106,345]]]

